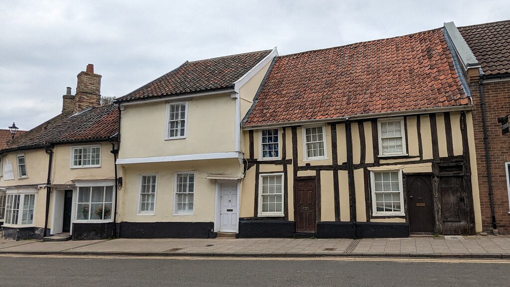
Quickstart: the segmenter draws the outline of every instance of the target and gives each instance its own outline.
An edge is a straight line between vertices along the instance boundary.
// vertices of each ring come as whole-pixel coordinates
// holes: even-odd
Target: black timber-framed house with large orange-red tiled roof
[[[243,119],[238,236],[481,231],[456,40],[445,25],[276,57]]]

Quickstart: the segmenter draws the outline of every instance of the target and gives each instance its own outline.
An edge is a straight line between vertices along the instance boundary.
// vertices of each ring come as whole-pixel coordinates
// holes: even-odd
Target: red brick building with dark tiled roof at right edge
[[[510,20],[458,31],[477,62],[461,59],[473,101],[482,228],[509,234],[510,133],[502,135],[498,119],[510,114]]]

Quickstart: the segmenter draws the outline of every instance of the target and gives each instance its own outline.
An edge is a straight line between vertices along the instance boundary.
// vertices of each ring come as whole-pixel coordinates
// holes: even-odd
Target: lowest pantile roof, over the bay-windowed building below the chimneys
[[[70,117],[58,115],[8,143],[9,149],[53,143],[105,140],[118,131],[117,105],[94,107]]]

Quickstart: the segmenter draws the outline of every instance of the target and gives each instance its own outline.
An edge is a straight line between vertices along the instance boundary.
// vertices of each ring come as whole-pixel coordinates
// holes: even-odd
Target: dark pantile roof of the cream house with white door
[[[271,50],[200,61],[186,61],[170,73],[124,95],[117,101],[232,87],[234,82],[269,53]]]

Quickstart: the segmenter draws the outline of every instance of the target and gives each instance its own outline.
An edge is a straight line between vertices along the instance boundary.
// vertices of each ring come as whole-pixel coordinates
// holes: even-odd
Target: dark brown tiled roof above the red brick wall
[[[510,20],[459,27],[486,75],[510,74]]]

